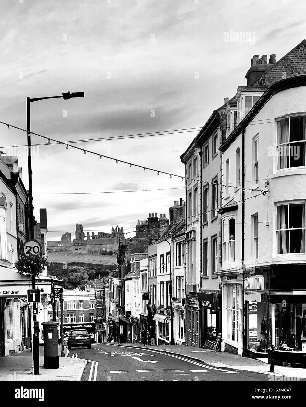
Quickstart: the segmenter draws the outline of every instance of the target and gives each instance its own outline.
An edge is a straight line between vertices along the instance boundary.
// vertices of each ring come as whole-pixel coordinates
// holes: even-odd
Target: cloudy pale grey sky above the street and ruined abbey
[[[27,96],[69,90],[85,97],[31,103],[32,131],[72,141],[202,127],[224,97],[246,85],[253,55],[278,60],[306,37],[305,12],[302,0],[2,0],[0,120],[26,128]],[[251,41],[226,42],[231,30],[250,33]],[[2,150],[26,144],[22,131],[0,125],[0,135]],[[184,175],[179,156],[195,135],[76,145]],[[66,231],[74,238],[76,222],[85,234],[117,224],[132,232],[137,219],[169,216],[173,201],[184,199],[184,182],[174,177],[62,145],[47,143],[34,153],[34,214],[47,208],[48,240]],[[28,188],[20,151],[18,162]],[[157,188],[181,189],[143,192]],[[126,190],[139,192],[112,193]],[[55,195],[93,192],[107,193]],[[52,195],[39,195],[46,193]]]

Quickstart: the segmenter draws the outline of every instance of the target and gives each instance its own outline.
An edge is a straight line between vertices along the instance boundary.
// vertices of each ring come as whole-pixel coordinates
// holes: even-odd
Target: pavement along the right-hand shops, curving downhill
[[[109,344],[111,346],[126,346],[128,348],[152,349],[156,352],[169,353],[182,356],[187,359],[205,363],[212,368],[224,368],[236,372],[260,373],[274,376],[284,376],[288,378],[306,379],[306,369],[289,368],[274,365],[274,373],[270,373],[270,364],[241,357],[229,352],[213,352],[210,349],[193,348],[191,346],[180,345],[154,345],[143,346],[142,344]],[[268,360],[268,359],[267,359]]]

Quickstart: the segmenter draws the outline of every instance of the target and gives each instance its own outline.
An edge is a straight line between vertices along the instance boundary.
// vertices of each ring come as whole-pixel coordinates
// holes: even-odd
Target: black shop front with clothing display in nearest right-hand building
[[[288,279],[282,289],[282,270],[245,278],[246,356],[269,362],[274,345],[276,365],[306,367],[306,289],[301,282],[302,290],[291,291],[293,284]]]

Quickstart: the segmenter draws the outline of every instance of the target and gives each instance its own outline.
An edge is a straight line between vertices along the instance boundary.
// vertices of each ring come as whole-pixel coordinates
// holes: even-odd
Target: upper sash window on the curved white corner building
[[[278,120],[277,169],[305,167],[306,116]]]

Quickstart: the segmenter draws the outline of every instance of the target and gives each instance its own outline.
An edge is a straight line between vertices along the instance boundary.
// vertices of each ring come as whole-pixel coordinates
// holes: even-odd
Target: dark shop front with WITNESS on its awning
[[[200,308],[201,346],[213,349],[221,326],[221,295],[211,292],[197,293]]]

